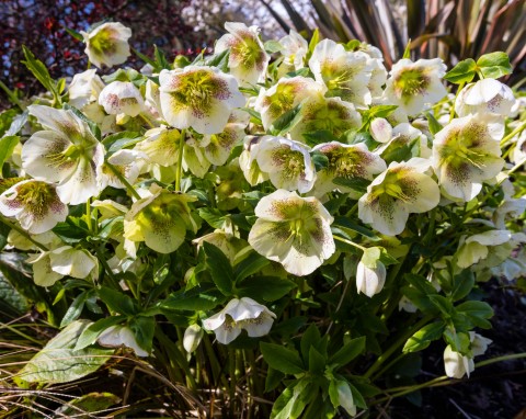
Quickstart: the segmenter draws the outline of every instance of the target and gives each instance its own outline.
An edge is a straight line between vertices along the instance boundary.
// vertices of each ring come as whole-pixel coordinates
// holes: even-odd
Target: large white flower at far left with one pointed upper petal
[[[82,204],[99,194],[98,177],[104,147],[88,124],[71,111],[31,105],[44,131],[22,147],[22,167],[34,178],[58,182],[57,194],[65,204]]]

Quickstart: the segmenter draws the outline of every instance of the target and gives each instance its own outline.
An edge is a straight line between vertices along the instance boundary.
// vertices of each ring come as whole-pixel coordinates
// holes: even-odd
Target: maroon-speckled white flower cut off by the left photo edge
[[[66,220],[68,206],[58,197],[55,185],[24,180],[0,195],[0,213],[15,217],[24,230],[36,235]]]

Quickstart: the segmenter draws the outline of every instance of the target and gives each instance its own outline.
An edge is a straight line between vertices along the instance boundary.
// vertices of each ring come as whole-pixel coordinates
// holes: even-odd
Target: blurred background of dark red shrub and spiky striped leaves
[[[0,2],[1,78],[21,94],[38,91],[20,64],[22,45],[42,59],[52,77],[85,69],[83,44],[65,27],[85,31],[111,19],[132,27],[132,46],[144,54],[156,44],[168,57],[211,49],[227,21],[262,29],[264,38],[294,29],[309,37],[365,41],[380,48],[389,68],[411,42],[413,59],[442,57],[450,68],[468,57],[503,50],[515,69],[507,78],[519,86],[526,77],[526,0],[8,0]],[[133,56],[129,65],[140,67]],[[0,106],[9,103],[2,95]]]

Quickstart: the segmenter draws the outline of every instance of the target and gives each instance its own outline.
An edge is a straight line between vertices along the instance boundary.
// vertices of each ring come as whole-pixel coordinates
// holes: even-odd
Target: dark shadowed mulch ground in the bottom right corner
[[[487,353],[476,358],[502,356],[526,352],[526,297],[507,282],[492,280],[482,286],[487,301],[493,307],[493,329],[480,331],[493,340]],[[424,380],[444,375],[444,346],[430,348],[423,359]],[[407,398],[393,400],[387,414],[391,418],[426,419],[525,419],[526,418],[526,359],[499,362],[477,369],[469,381],[455,385],[422,390],[422,406]]]

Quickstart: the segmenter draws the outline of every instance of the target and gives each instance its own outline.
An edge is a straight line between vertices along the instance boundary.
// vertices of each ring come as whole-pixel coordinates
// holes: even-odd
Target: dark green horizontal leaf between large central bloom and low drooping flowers
[[[278,276],[252,276],[237,284],[237,294],[241,297],[259,297],[274,302],[286,295],[297,285],[294,281]]]

